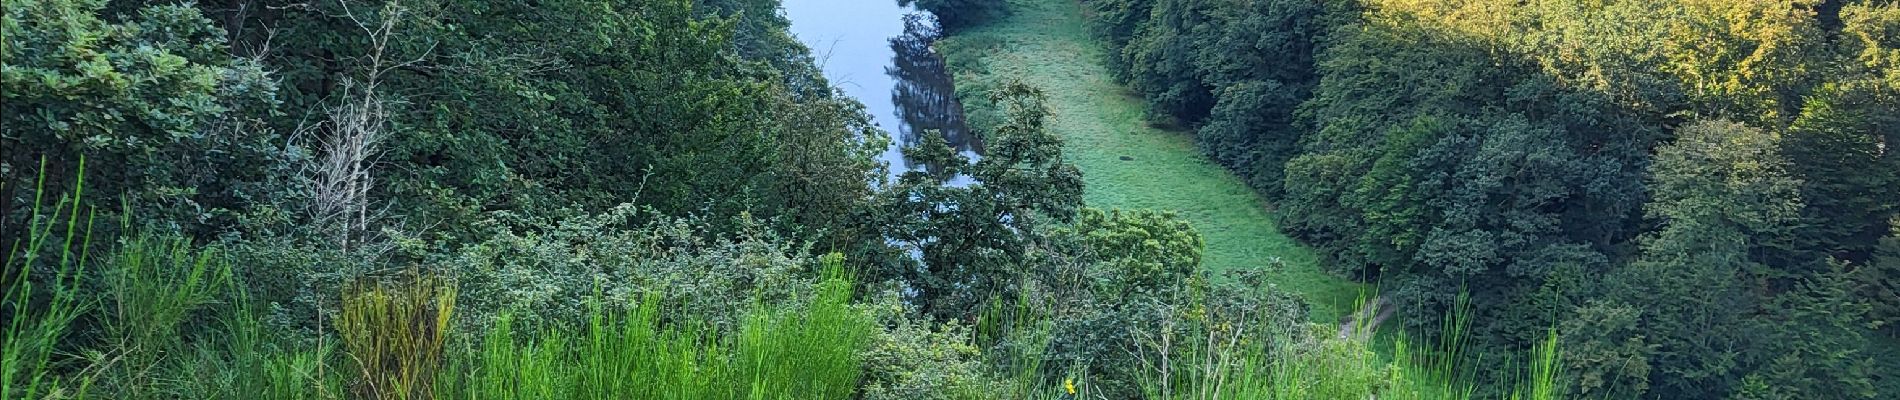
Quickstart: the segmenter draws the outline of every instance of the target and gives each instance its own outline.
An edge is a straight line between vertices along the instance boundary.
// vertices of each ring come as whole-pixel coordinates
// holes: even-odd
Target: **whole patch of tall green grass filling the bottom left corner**
[[[25,237],[10,243],[0,269],[0,398],[340,398],[312,373],[327,349],[270,347],[276,336],[255,317],[245,288],[230,284],[217,248],[137,233],[93,271],[95,214],[80,203],[84,165],[72,193],[51,205],[42,173]],[[82,292],[89,279],[99,296]],[[180,326],[207,305],[220,305],[213,320],[220,324],[186,343]],[[95,324],[97,347],[80,349],[87,341],[68,337],[82,318]]]

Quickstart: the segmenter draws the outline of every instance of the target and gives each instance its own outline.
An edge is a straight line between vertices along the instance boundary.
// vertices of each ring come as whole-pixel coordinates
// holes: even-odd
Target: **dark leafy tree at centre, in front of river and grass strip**
[[[984,133],[984,157],[971,163],[940,135],[923,135],[904,154],[933,169],[904,173],[882,193],[885,235],[922,254],[923,267],[880,271],[916,288],[931,315],[961,317],[973,305],[1013,292],[1032,243],[1047,222],[1068,222],[1081,207],[1081,171],[1049,131],[1041,89],[1005,83],[990,95],[1003,119]],[[969,186],[950,180],[967,174]]]

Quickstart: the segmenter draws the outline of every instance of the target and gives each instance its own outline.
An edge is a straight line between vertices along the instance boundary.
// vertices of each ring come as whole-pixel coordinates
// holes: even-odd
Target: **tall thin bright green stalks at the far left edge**
[[[91,250],[93,210],[80,207],[86,190],[86,159],[80,159],[72,193],[48,207],[46,159],[40,159],[40,178],[34,184],[32,212],[27,218],[23,241],[8,243],[6,267],[0,275],[6,294],[0,315],[6,317],[6,337],[0,339],[0,398],[57,398],[84,396],[84,381],[59,381],[55,349],[80,315],[93,303],[80,296],[86,273],[86,254]],[[49,273],[44,286],[34,284],[34,273]]]

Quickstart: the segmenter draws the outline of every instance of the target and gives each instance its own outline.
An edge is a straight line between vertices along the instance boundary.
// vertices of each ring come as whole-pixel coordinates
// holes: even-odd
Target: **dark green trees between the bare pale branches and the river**
[[[285,82],[289,110],[274,121],[300,131],[304,152],[329,154],[325,116],[374,87],[388,140],[369,197],[433,235],[473,235],[500,210],[636,201],[853,237],[863,227],[842,216],[870,199],[882,133],[817,78],[771,4],[703,4],[205,9],[228,23],[234,51],[262,53]]]

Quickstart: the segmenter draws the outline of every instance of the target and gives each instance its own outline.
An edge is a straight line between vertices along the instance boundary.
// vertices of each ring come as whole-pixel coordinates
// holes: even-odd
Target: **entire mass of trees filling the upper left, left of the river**
[[[882,176],[884,133],[819,78],[775,2],[8,9],[8,180],[89,154],[95,199],[129,195],[200,237],[317,235],[332,157],[361,173],[348,203],[395,216],[353,229],[450,239],[496,210],[636,201],[749,210],[844,246],[868,231],[847,216]],[[23,195],[0,193],[4,239]]]

